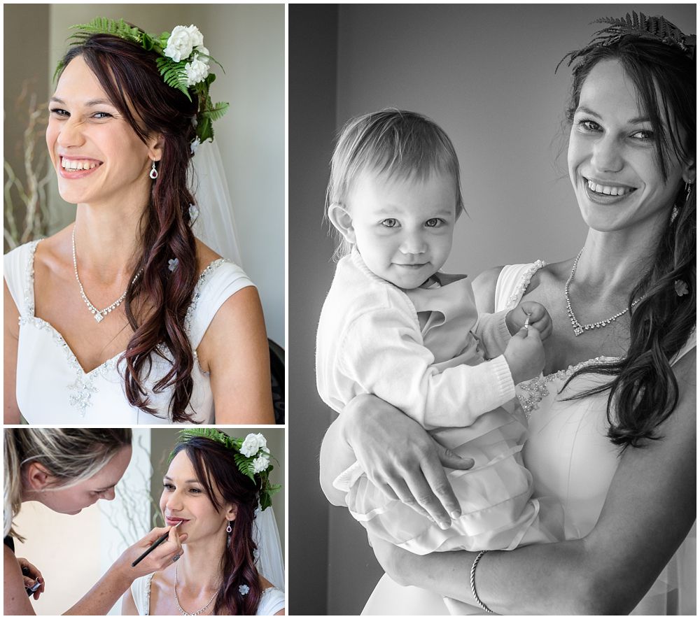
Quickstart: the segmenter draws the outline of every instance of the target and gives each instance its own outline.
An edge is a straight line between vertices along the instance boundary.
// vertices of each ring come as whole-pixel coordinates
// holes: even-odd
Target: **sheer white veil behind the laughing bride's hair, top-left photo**
[[[190,207],[195,236],[242,267],[231,194],[215,141],[208,140],[197,147],[193,172],[188,180],[197,203],[196,208]]]

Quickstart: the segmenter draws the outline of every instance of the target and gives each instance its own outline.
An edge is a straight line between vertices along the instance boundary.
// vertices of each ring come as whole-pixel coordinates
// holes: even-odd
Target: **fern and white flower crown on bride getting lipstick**
[[[272,506],[272,495],[280,490],[280,484],[269,483],[270,471],[274,468],[270,464],[270,457],[267,448],[267,439],[262,434],[248,434],[245,439],[237,436],[229,436],[214,428],[189,428],[180,430],[179,441],[187,443],[190,439],[209,439],[220,443],[225,448],[234,452],[233,460],[236,462],[238,470],[253,483],[260,481],[260,509],[264,511]],[[168,462],[173,459],[171,453]],[[257,479],[256,479],[257,476]]]

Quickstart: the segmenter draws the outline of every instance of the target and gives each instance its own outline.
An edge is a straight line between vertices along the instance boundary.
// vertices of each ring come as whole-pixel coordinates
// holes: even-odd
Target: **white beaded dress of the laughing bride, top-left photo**
[[[131,406],[124,392],[123,373],[115,355],[85,372],[59,332],[34,315],[34,252],[40,241],[31,241],[6,254],[5,280],[20,313],[17,353],[16,397],[29,424],[77,424],[81,426],[169,424],[172,390],[154,394],[151,406],[158,416]],[[196,422],[214,422],[214,397],[209,373],[200,369],[196,357],[204,332],[221,305],[232,294],[253,283],[242,269],[218,259],[202,272],[186,315],[185,329],[195,351],[190,409]],[[87,309],[86,309],[87,311]],[[167,354],[167,348],[163,349]],[[146,386],[165,375],[169,362],[153,355],[153,369]],[[40,388],[37,388],[37,380]]]

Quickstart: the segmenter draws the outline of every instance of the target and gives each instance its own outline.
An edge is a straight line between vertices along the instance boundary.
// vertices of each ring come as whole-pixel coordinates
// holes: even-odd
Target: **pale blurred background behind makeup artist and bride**
[[[267,447],[279,460],[270,483],[282,489],[272,497],[282,552],[285,548],[285,453],[283,428],[219,428],[230,436],[261,432]],[[167,459],[177,442],[177,428],[134,428],[133,455],[113,501],[98,501],[76,515],[51,511],[38,502],[27,502],[15,518],[15,530],[25,542],[15,540],[15,555],[36,565],[46,591],[31,603],[37,615],[60,615],[87,593],[113,562],[153,527],[162,527],[158,501],[163,491]],[[121,602],[109,613],[121,614]]]

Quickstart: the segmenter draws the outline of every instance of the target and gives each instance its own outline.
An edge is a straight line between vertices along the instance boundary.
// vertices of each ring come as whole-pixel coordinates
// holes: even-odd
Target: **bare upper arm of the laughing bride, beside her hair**
[[[217,423],[274,424],[269,347],[254,286],[219,308],[197,353],[202,369],[211,372]]]

